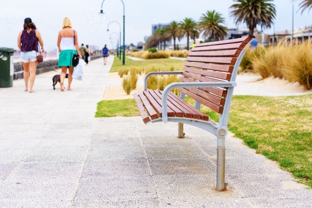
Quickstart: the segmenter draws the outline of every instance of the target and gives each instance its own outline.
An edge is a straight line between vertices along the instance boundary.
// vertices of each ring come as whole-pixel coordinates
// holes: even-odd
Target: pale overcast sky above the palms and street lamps
[[[309,15],[305,11],[302,15],[297,12],[299,1],[295,2],[296,28],[312,25],[312,11]],[[117,40],[119,25],[111,24],[110,31],[107,26],[110,21],[118,21],[122,26],[123,6],[120,0],[105,0],[100,16],[102,0],[10,0],[1,1],[0,7],[0,47],[17,49],[17,35],[23,29],[25,17],[31,17],[40,31],[46,51],[56,48],[57,34],[62,26],[62,19],[69,17],[73,28],[78,33],[79,44],[97,45],[103,47],[107,44],[112,47],[111,41]],[[291,30],[292,3],[290,0],[275,0],[276,5],[276,31]],[[192,17],[198,20],[207,10],[216,10],[226,18],[226,26],[235,28],[233,19],[229,15],[229,7],[233,0],[124,0],[125,4],[125,43],[134,43],[144,40],[144,36],[151,35],[151,25],[168,23],[172,20],[182,20]],[[239,27],[243,27],[240,25]],[[122,28],[121,28],[122,29]],[[260,29],[260,27],[258,27]],[[265,30],[273,33],[273,27]],[[183,43],[185,40],[182,40]]]

